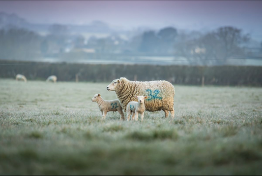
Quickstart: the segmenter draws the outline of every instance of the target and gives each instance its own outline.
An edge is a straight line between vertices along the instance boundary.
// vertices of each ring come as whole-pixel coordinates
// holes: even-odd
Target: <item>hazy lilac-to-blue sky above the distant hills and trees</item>
[[[112,27],[139,26],[201,30],[231,25],[260,35],[262,1],[0,1],[0,11],[16,13],[33,23],[88,24],[93,20]]]

